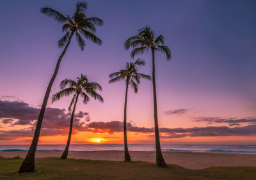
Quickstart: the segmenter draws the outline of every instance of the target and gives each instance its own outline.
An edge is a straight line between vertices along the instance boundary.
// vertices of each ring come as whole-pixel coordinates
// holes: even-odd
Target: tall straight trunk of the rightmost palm
[[[166,167],[160,146],[158,117],[157,117],[157,97],[156,97],[156,79],[155,79],[155,50],[152,49],[152,82],[154,94],[154,121],[155,121],[155,138],[156,138],[156,163],[158,167]]]

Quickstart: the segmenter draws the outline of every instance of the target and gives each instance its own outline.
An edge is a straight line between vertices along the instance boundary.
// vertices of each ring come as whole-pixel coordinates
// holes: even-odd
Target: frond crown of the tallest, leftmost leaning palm
[[[103,20],[97,17],[86,17],[86,15],[84,15],[84,11],[86,9],[87,3],[79,1],[76,4],[76,11],[70,17],[68,15],[64,16],[52,8],[41,8],[41,12],[45,15],[52,17],[60,23],[65,23],[62,26],[62,31],[67,33],[58,41],[59,47],[64,47],[67,44],[70,36],[72,36],[74,33],[76,33],[77,43],[79,47],[81,47],[81,50],[83,50],[85,47],[85,41],[83,40],[82,36],[93,41],[94,43],[97,43],[98,45],[102,44],[100,38],[93,33],[96,31],[95,25],[102,26]]]

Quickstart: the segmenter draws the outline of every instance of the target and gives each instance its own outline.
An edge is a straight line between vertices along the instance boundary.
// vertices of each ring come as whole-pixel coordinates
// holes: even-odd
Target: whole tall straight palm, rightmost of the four
[[[157,118],[157,97],[156,97],[156,79],[155,79],[155,52],[163,52],[166,55],[166,59],[170,59],[171,52],[170,49],[164,45],[164,37],[162,35],[155,36],[154,32],[150,27],[143,27],[138,31],[136,36],[128,38],[124,47],[128,50],[130,47],[133,48],[131,52],[131,57],[138,54],[143,54],[145,50],[148,49],[152,52],[152,84],[153,84],[153,94],[154,94],[154,122],[155,122],[155,138],[156,138],[156,161],[159,167],[165,167],[166,163],[161,152],[160,139],[159,139],[159,129],[158,129],[158,118]]]

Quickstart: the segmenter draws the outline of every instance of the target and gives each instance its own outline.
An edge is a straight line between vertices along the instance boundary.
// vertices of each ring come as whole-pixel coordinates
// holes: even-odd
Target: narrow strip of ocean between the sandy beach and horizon
[[[154,144],[129,144],[129,151],[155,151]],[[29,145],[0,145],[0,151],[26,151]],[[64,150],[65,145],[38,145],[37,150]],[[256,153],[256,145],[173,145],[162,144],[162,151],[206,153]],[[122,144],[77,144],[70,151],[123,151]]]

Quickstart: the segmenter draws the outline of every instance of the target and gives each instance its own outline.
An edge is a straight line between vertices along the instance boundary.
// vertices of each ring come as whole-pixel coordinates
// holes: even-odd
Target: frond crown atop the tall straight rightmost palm
[[[154,31],[150,27],[143,27],[138,31],[136,36],[132,36],[125,41],[124,47],[128,50],[130,47],[134,48],[131,52],[131,57],[133,58],[136,55],[143,54],[145,50],[149,48],[151,50],[156,50],[163,52],[166,55],[166,59],[171,58],[171,51],[168,46],[164,45],[163,35],[155,36]]]

